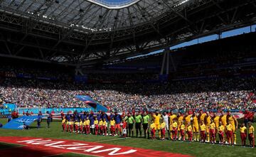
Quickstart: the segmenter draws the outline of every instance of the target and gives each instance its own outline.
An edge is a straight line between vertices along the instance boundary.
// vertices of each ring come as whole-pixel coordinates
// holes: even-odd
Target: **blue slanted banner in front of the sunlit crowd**
[[[82,102],[85,102],[86,104],[90,105],[93,109],[95,109],[95,112],[107,112],[107,108],[103,107],[99,102],[96,102],[94,99],[87,95],[77,95],[76,98],[80,99]]]

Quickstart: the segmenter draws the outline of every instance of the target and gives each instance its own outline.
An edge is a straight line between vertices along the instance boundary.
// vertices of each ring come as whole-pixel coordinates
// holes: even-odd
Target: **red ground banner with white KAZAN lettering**
[[[95,142],[58,140],[58,139],[35,139],[31,137],[0,137],[1,141],[19,144],[23,147],[0,150],[0,154],[16,156],[18,152],[22,156],[52,156],[60,153],[81,153],[90,156],[170,156],[189,157],[178,153],[154,151],[144,148],[133,148],[127,146],[115,146]],[[16,150],[15,150],[16,149]],[[26,150],[26,151],[25,151]],[[32,155],[31,155],[32,154]]]

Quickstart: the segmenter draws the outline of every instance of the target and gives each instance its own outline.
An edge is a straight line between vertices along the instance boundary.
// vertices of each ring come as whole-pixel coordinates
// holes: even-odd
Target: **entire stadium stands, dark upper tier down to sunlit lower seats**
[[[222,50],[212,49],[218,40],[176,50],[183,58],[165,83],[158,81],[157,73],[146,70],[129,73],[129,68],[123,70],[126,73],[110,74],[95,70],[87,74],[87,84],[78,84],[68,72],[3,66],[1,97],[4,102],[18,107],[82,107],[84,104],[75,96],[85,94],[117,111],[134,108],[256,109],[255,46],[250,45],[247,50],[230,47],[234,40],[250,40],[252,36],[255,34],[223,39],[222,42],[230,44]],[[198,48],[203,50],[198,51]],[[133,62],[142,60],[144,58]],[[119,68],[118,64],[114,66]]]

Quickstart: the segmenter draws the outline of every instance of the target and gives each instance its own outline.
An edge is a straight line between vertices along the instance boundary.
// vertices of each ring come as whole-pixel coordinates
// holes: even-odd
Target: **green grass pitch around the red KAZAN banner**
[[[6,119],[0,119],[0,123],[5,124]],[[256,128],[256,124],[254,124]],[[201,144],[199,142],[183,142],[183,141],[159,141],[144,138],[129,138],[122,139],[118,136],[95,136],[95,135],[82,135],[82,134],[70,134],[61,131],[62,127],[60,121],[53,121],[50,124],[50,129],[46,129],[46,121],[42,122],[41,129],[36,128],[36,122],[31,125],[30,130],[11,130],[0,129],[0,136],[31,136],[31,137],[44,137],[53,139],[73,139],[80,141],[92,141],[104,144],[114,144],[121,146],[133,146],[138,148],[153,149],[156,151],[168,151],[171,153],[183,153],[191,156],[256,156],[256,148],[242,148],[240,146],[240,134],[237,132],[237,144],[238,146],[221,146],[218,144]],[[157,135],[157,133],[156,133]],[[218,141],[218,138],[217,138]],[[247,144],[249,141],[247,141]],[[13,147],[12,144],[1,143],[0,148]],[[70,156],[83,156],[75,153],[67,153],[60,155],[63,157]]]

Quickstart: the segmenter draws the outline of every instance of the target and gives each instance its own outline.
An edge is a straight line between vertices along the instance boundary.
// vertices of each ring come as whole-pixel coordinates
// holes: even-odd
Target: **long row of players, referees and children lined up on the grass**
[[[172,112],[160,114],[159,112],[148,114],[147,112],[122,113],[98,112],[97,115],[84,112],[78,114],[61,113],[63,131],[76,134],[95,134],[102,136],[121,136],[156,139],[156,133],[160,140],[200,141],[211,144],[236,145],[236,132],[240,131],[242,146],[255,146],[255,129],[249,121],[247,124],[238,124],[238,120],[231,112],[217,113],[186,112],[174,114]],[[48,116],[50,119],[50,115]],[[50,120],[49,120],[50,121]],[[40,125],[40,124],[39,124]],[[135,127],[134,127],[135,126]],[[218,139],[218,140],[217,140]]]

